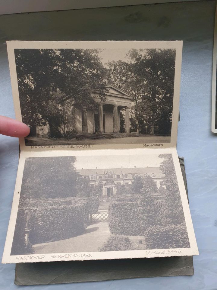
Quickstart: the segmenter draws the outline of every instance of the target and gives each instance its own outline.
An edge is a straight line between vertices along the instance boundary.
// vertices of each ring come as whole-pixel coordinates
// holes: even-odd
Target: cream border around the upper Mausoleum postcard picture
[[[99,149],[133,149],[149,147],[176,147],[178,132],[178,110],[181,82],[181,59],[182,59],[182,41],[7,41],[8,61],[11,75],[12,94],[14,98],[14,108],[16,119],[22,121],[20,100],[18,92],[18,83],[16,75],[16,63],[14,49],[28,48],[162,48],[175,49],[175,78],[174,78],[174,96],[173,113],[170,143],[148,143],[145,144],[110,144],[110,145],[54,145],[54,146],[26,146],[25,139],[19,138],[20,149],[23,151],[49,151],[49,150],[99,150]],[[145,141],[145,140],[144,140]],[[73,141],[72,141],[73,143]],[[91,143],[91,142],[90,142]]]

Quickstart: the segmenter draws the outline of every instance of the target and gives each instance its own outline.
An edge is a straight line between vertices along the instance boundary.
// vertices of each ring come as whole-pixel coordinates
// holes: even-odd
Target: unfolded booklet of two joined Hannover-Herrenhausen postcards
[[[9,41],[20,161],[2,263],[198,255],[182,41]]]

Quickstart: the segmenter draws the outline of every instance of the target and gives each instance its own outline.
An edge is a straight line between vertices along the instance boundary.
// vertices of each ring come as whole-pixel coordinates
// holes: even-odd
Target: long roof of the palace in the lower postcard
[[[162,173],[159,167],[77,169],[81,175]]]

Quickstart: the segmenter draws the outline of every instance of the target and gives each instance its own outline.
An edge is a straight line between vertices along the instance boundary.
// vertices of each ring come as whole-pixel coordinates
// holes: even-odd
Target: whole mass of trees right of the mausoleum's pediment
[[[115,84],[134,96],[131,119],[137,132],[148,125],[151,134],[170,134],[175,50],[132,49],[128,58],[131,63],[112,61],[108,66]]]

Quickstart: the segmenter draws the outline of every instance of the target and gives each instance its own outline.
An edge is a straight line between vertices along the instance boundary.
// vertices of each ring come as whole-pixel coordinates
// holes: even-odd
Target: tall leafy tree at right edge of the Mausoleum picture
[[[159,131],[162,120],[167,120],[167,127],[162,133],[171,133],[173,107],[175,50],[148,49],[131,50],[129,53],[135,64],[137,81],[140,80],[142,96],[136,105],[137,111],[144,115],[150,127],[150,133]],[[160,127],[162,130],[162,127]]]

